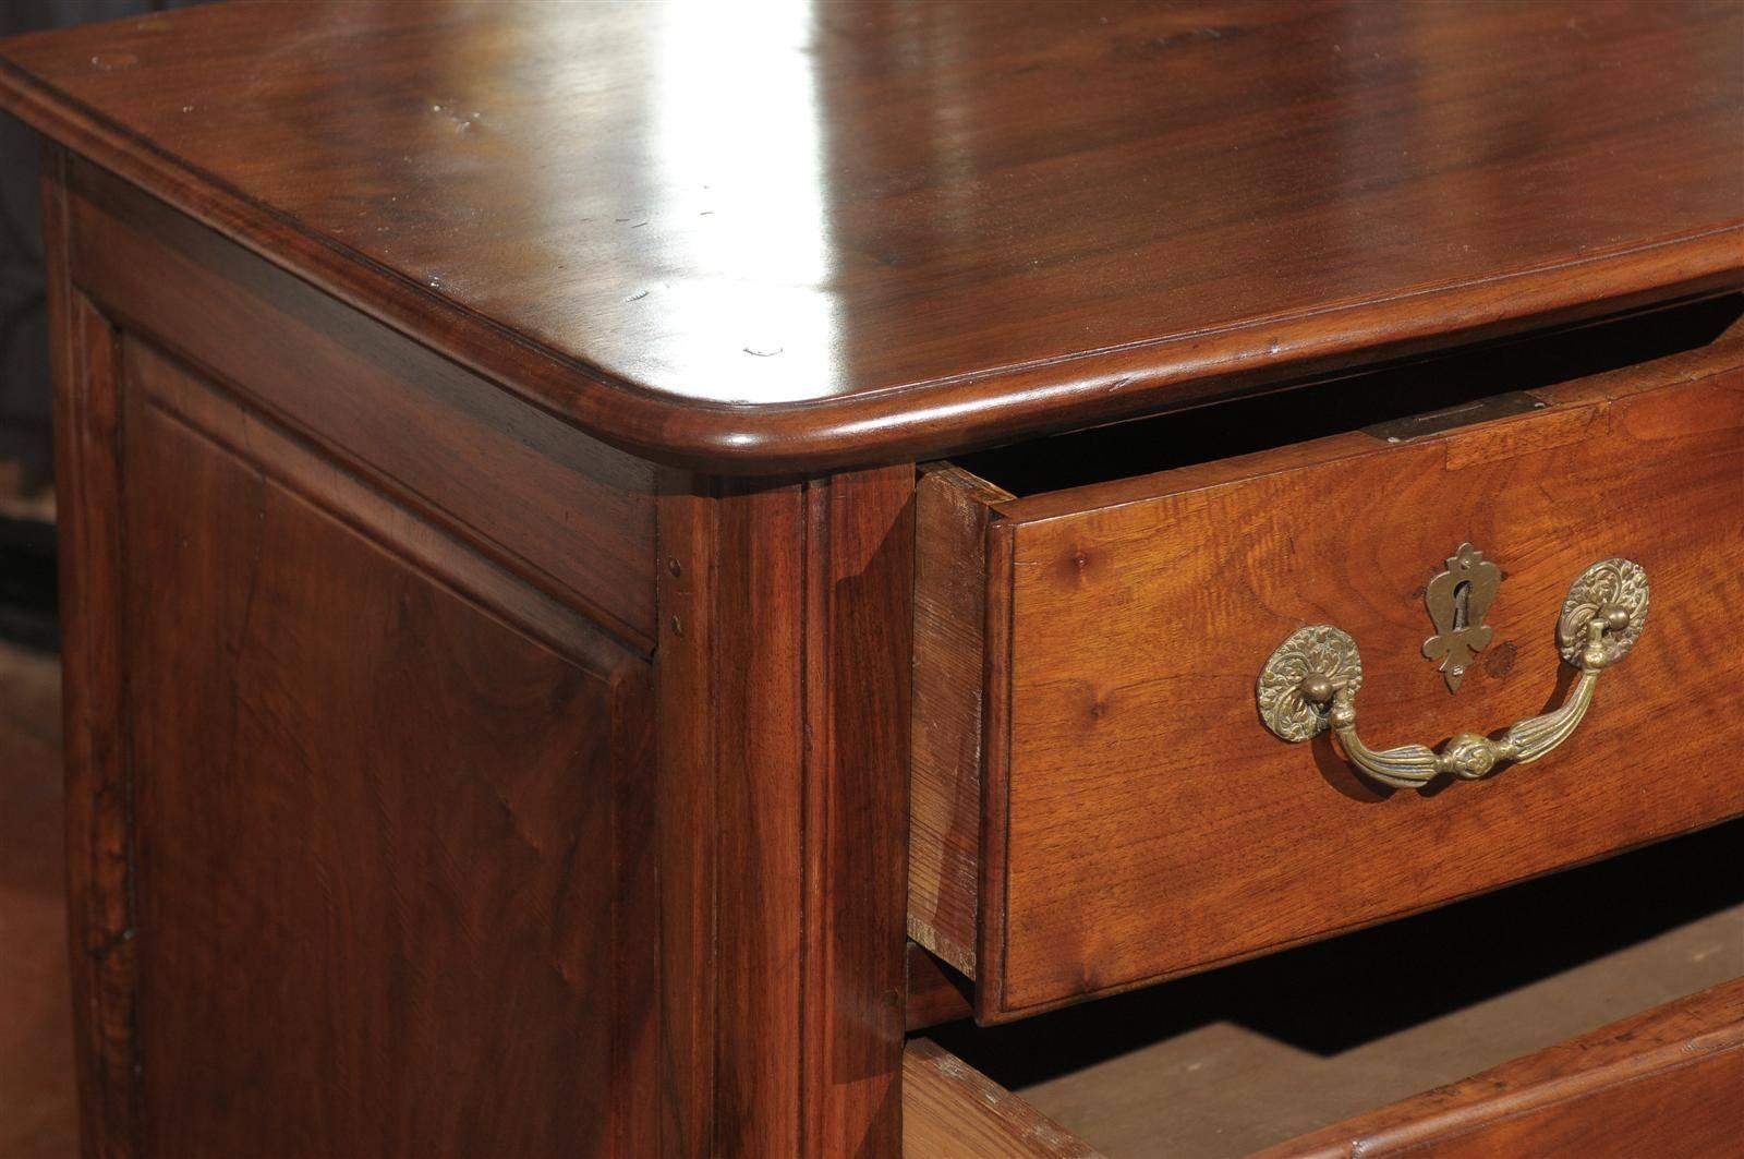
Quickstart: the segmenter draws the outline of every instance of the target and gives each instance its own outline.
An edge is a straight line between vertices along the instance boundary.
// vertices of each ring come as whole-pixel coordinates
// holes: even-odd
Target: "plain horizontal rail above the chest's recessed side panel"
[[[352,471],[647,651],[654,468],[605,447],[94,166],[72,276]]]

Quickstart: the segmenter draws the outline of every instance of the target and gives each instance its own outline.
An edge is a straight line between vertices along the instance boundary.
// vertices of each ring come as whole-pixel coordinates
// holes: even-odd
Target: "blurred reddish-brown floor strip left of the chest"
[[[61,883],[61,669],[0,644],[0,1157],[77,1152]]]

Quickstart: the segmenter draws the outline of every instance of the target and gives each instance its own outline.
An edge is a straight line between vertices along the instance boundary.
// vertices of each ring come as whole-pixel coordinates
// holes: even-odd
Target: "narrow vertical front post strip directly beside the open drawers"
[[[804,1152],[895,1150],[907,1030],[914,464],[806,483]]]

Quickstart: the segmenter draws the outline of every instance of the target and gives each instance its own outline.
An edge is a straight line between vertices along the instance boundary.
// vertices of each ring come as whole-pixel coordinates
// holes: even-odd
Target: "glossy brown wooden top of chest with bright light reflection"
[[[0,101],[603,438],[900,459],[1744,283],[1739,3],[225,3]]]

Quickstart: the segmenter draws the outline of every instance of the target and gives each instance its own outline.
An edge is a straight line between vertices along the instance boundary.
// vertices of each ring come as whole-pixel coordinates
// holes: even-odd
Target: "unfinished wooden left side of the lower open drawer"
[[[1095,1159],[1092,1149],[935,1042],[902,1054],[907,1159]]]

